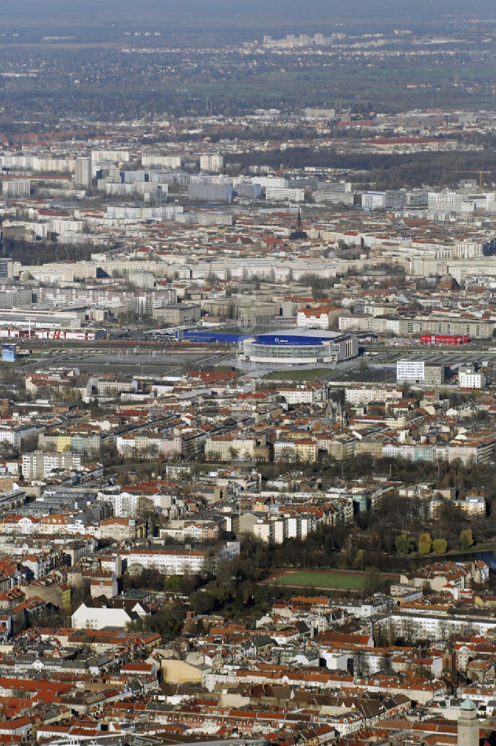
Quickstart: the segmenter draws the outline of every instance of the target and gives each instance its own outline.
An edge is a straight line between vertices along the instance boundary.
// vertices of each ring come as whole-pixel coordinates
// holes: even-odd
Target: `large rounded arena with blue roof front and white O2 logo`
[[[293,327],[241,339],[240,368],[318,368],[358,355],[358,339],[348,333]]]

